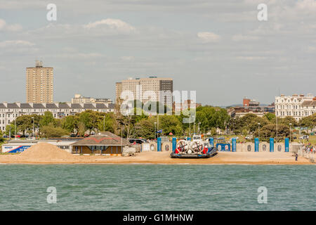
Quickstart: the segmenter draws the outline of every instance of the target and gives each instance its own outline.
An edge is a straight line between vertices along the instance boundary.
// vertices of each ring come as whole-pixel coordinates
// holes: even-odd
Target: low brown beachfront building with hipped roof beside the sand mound
[[[73,143],[72,153],[117,155],[128,145],[129,141],[126,139],[105,131]]]

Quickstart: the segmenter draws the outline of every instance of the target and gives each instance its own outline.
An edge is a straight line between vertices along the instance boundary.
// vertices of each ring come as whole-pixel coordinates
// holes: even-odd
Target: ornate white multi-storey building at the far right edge
[[[314,113],[316,113],[316,98],[312,94],[275,97],[275,115],[277,117],[291,116],[298,121]]]

